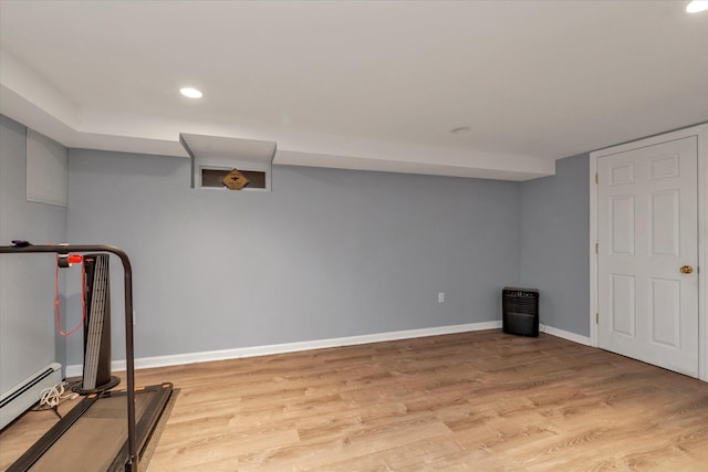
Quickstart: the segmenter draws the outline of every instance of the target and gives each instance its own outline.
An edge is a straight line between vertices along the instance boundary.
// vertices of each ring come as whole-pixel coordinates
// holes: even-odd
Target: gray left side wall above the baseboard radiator
[[[27,201],[25,165],[25,127],[0,116],[0,244],[61,242],[66,209]],[[54,265],[50,254],[0,256],[0,392],[49,363],[65,364],[65,344],[54,339]]]

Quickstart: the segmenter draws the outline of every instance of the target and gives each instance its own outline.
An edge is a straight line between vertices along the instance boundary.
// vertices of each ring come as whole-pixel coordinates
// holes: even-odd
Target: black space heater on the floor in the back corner
[[[539,336],[539,291],[506,286],[501,300],[504,333]]]

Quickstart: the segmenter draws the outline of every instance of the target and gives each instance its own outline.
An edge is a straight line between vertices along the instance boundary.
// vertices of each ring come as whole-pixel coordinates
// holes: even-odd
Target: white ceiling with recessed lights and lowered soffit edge
[[[708,12],[686,3],[0,0],[0,113],[67,147],[187,156],[194,133],[525,180],[708,119]]]

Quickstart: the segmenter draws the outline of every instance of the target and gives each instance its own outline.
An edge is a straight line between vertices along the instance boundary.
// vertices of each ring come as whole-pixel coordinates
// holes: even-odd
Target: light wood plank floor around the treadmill
[[[150,472],[708,471],[708,384],[543,334],[137,373],[163,381],[181,391]],[[51,417],[0,436],[3,468]]]

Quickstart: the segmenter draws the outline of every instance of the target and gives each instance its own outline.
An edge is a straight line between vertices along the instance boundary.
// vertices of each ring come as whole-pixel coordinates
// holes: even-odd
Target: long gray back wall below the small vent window
[[[519,282],[517,182],[274,166],[272,192],[236,193],[190,189],[181,158],[69,167],[70,241],[133,260],[137,357],[493,321]]]

